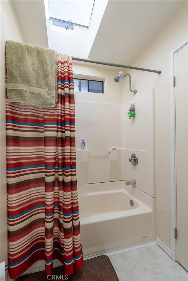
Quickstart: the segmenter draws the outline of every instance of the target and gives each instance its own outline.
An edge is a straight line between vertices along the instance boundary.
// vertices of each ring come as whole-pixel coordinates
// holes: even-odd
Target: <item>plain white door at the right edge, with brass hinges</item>
[[[188,270],[188,45],[174,54],[177,261]]]

